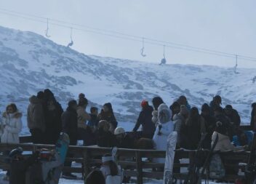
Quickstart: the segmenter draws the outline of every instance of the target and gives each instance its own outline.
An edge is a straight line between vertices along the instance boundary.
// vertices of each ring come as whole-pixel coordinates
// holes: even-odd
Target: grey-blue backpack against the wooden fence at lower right
[[[225,176],[225,167],[220,155],[215,153],[209,164],[209,177],[212,179],[221,179]]]

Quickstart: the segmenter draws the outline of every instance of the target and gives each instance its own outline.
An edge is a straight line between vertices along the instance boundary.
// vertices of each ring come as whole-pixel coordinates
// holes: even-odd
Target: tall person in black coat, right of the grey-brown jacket
[[[62,129],[61,115],[63,108],[49,89],[44,90],[44,105],[46,143],[55,145]]]

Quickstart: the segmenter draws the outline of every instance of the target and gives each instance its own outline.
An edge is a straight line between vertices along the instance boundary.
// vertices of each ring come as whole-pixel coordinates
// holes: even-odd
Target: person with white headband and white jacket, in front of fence
[[[121,184],[123,180],[121,167],[117,166],[113,156],[103,156],[102,162],[103,165],[100,167],[100,171],[103,172],[105,177],[105,184]]]

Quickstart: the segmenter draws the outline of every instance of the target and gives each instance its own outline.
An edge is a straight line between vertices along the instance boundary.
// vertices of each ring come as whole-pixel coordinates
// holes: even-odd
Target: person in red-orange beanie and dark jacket
[[[144,138],[153,138],[153,134],[156,130],[156,126],[152,122],[152,106],[148,105],[148,101],[143,100],[140,104],[142,111],[140,111],[140,115],[137,119],[135,127],[133,129],[134,132],[139,129],[140,125],[142,126],[142,137]]]

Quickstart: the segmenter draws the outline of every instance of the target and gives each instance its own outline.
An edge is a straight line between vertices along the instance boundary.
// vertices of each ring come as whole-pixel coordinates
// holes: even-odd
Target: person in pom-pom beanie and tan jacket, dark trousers
[[[91,116],[87,113],[88,100],[84,97],[84,94],[79,95],[79,104],[76,108],[77,121],[78,121],[78,137],[79,140],[83,140],[83,145],[95,144],[95,138],[92,133],[91,127],[87,126],[87,122],[91,120]]]

